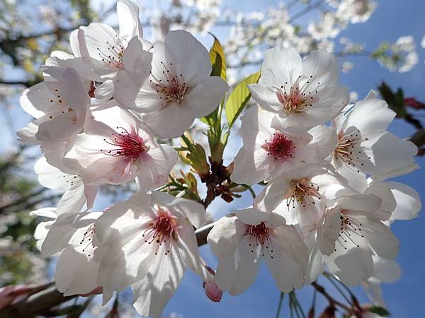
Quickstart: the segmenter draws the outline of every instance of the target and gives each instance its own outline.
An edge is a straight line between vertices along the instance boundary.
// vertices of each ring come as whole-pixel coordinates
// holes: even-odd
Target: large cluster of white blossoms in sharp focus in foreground
[[[237,295],[263,259],[285,293],[312,283],[326,266],[348,285],[395,259],[390,225],[414,218],[419,195],[386,181],[416,169],[416,146],[386,131],[395,117],[374,93],[348,105],[336,58],[302,59],[295,49],[266,52],[249,85],[258,105],[242,118],[243,146],[234,184],[263,184],[250,208],[220,218],[207,241],[219,260],[198,254],[203,204],[164,192],[177,152],[157,139],[181,136],[225,99],[228,85],[210,76],[208,50],[190,33],[143,38],[139,9],[117,5],[119,33],[91,23],[71,35],[73,54],[52,52],[45,81],[21,106],[35,117],[18,132],[40,145],[40,183],[64,191],[35,232],[43,255],[57,255],[64,295],[103,293],[103,303],[131,286],[135,308],[159,317],[187,268]],[[325,124],[329,123],[327,126]],[[91,211],[98,187],[135,182],[139,192]]]

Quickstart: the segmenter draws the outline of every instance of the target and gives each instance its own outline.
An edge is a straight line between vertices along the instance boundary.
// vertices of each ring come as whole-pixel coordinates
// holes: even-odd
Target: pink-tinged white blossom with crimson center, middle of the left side
[[[123,184],[137,178],[142,189],[152,189],[166,183],[177,161],[171,146],[159,145],[140,119],[118,106],[92,110],[84,130],[64,158],[84,184]]]

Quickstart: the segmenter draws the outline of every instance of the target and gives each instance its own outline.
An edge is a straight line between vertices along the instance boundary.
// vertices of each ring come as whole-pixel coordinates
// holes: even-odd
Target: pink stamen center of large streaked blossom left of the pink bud
[[[166,246],[165,254],[169,254],[171,248],[171,240],[177,240],[177,220],[169,211],[161,207],[157,209],[157,217],[149,223],[147,229],[143,233],[147,244],[157,243],[155,255],[162,245]]]

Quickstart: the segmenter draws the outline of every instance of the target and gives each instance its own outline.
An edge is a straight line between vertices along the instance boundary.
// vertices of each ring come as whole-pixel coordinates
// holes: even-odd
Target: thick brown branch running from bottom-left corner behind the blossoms
[[[207,236],[215,223],[210,223],[195,231],[198,246],[207,243]],[[61,305],[68,300],[78,297],[72,295],[64,297],[55,286],[46,284],[47,288],[20,300],[13,305],[0,309],[0,318],[34,318],[42,312],[47,312],[52,307]]]

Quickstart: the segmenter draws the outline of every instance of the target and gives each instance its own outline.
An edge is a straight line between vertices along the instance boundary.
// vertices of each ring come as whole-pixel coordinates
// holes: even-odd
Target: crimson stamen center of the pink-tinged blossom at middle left
[[[118,128],[119,127],[117,127],[117,129]],[[106,143],[116,146],[117,148],[108,151],[101,150],[102,153],[112,155],[113,157],[120,157],[123,155],[125,157],[137,159],[142,153],[149,150],[149,146],[145,145],[145,142],[140,136],[137,136],[137,134],[130,134],[127,129],[121,129],[123,130],[121,134],[112,134],[113,141],[103,139]]]

